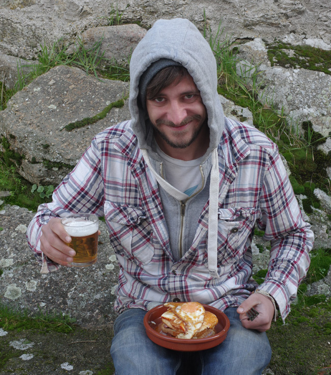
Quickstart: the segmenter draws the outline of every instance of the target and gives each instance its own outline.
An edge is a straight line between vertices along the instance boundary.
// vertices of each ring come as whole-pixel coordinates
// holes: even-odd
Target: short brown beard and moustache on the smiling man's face
[[[174,147],[174,148],[186,148],[188,147],[189,145],[191,145],[200,135],[202,129],[204,128],[205,124],[206,124],[206,121],[207,119],[204,119],[203,121],[202,120],[202,116],[200,115],[193,115],[193,116],[189,116],[189,117],[186,117],[181,123],[180,123],[180,126],[183,126],[185,125],[186,123],[192,121],[192,120],[198,120],[200,121],[200,126],[198,129],[196,129],[196,131],[192,134],[192,137],[184,142],[184,141],[179,141],[178,142],[173,142],[172,140],[170,140],[166,134],[164,134],[163,132],[161,132],[159,129],[158,129],[158,126],[161,125],[161,124],[164,124],[164,125],[167,125],[167,126],[170,126],[170,127],[173,127],[175,128],[175,124],[172,122],[172,121],[167,121],[167,120],[156,120],[155,124],[152,123],[152,126],[153,126],[153,129],[154,129],[154,132],[156,134],[158,134],[164,141],[167,142],[167,144],[169,144],[171,147]],[[182,134],[184,134],[185,131],[182,131],[182,132],[178,132],[178,138],[180,138],[180,136]]]

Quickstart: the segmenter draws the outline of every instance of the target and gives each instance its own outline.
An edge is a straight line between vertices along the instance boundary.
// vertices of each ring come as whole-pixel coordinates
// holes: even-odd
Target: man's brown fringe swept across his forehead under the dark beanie
[[[183,78],[189,77],[189,73],[186,68],[181,66],[171,66],[163,68],[150,80],[146,87],[147,99],[153,99],[157,97],[158,93],[163,88],[170,86],[171,84],[178,84]]]

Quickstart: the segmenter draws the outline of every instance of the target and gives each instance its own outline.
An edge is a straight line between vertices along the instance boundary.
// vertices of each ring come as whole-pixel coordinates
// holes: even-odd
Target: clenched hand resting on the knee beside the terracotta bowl
[[[259,315],[251,322],[245,313],[252,307],[258,311]],[[241,303],[241,305],[237,308],[237,313],[239,314],[243,327],[264,332],[267,331],[271,326],[274,316],[274,307],[270,298],[264,296],[263,294],[253,293],[249,298]]]

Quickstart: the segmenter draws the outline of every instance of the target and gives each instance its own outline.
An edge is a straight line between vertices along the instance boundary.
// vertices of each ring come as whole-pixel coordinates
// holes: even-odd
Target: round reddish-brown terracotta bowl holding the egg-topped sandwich
[[[218,323],[215,326],[215,334],[204,338],[176,338],[155,331],[155,327],[161,323],[161,315],[167,311],[163,305],[149,310],[144,318],[147,336],[157,345],[181,352],[195,352],[213,348],[225,340],[230,328],[229,318],[215,307],[204,305],[205,310],[216,315]]]

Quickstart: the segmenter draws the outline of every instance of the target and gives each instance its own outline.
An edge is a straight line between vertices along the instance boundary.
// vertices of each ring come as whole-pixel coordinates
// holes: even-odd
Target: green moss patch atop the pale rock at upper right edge
[[[311,46],[293,46],[280,41],[267,43],[266,46],[271,66],[303,68],[331,74],[331,51]]]

